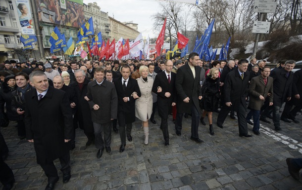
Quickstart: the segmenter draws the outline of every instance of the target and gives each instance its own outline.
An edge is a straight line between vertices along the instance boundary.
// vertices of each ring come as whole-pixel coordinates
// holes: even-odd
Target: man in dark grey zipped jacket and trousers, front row
[[[98,67],[95,69],[93,80],[88,83],[87,97],[91,108],[91,116],[95,129],[95,144],[99,149],[97,158],[103,154],[104,147],[110,153],[111,148],[111,121],[117,115],[117,95],[112,82],[104,79],[105,70]],[[102,138],[102,131],[104,139]]]

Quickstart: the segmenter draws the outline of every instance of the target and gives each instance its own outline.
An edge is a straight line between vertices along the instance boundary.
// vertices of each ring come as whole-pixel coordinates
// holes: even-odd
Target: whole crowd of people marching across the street
[[[149,144],[149,121],[160,117],[164,146],[170,144],[168,118],[172,115],[175,133],[181,136],[183,116],[192,117],[191,140],[202,143],[199,123],[208,124],[214,135],[213,112],[219,113],[216,125],[230,113],[238,118],[239,136],[248,134],[248,124],[260,135],[259,122],[280,120],[299,123],[302,109],[300,94],[302,71],[292,72],[295,61],[282,60],[271,69],[265,60],[202,61],[197,53],[187,60],[114,60],[114,61],[5,61],[0,64],[1,126],[16,121],[20,140],[34,143],[37,162],[48,177],[46,190],[58,180],[53,160],[60,159],[63,182],[70,179],[69,151],[76,146],[76,128],[84,130],[86,146],[95,144],[97,157],[111,152],[111,132],[119,133],[124,152],[131,142],[132,123],[142,121],[144,144]],[[279,114],[286,102],[283,113]],[[247,114],[247,108],[250,110]],[[51,118],[51,121],[50,121]],[[251,121],[252,119],[252,121]],[[9,138],[9,137],[6,137]],[[1,180],[10,190],[13,174],[3,160],[8,148],[0,134]]]

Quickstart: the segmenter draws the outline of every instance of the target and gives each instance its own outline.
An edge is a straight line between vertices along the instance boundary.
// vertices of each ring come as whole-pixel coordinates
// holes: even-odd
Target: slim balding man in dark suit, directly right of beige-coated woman
[[[152,91],[157,94],[158,114],[161,117],[160,128],[167,146],[169,145],[168,115],[172,112],[172,106],[176,105],[176,74],[171,72],[173,68],[171,60],[168,60],[165,65],[165,71],[156,75]]]

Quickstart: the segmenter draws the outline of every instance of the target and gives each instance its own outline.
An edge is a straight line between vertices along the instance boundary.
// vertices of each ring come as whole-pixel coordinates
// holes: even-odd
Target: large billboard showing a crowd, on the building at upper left
[[[85,22],[83,0],[36,0],[39,21],[79,28]]]

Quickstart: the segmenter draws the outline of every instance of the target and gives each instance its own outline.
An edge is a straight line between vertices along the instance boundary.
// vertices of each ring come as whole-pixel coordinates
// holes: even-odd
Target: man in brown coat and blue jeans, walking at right
[[[249,94],[250,102],[249,108],[250,113],[247,115],[246,119],[249,124],[253,124],[254,127],[252,131],[255,135],[259,135],[259,118],[260,109],[264,104],[265,98],[268,96],[269,106],[273,105],[273,78],[269,76],[270,68],[264,67],[261,70],[260,76],[255,76],[251,79]],[[251,122],[250,119],[253,119]]]

